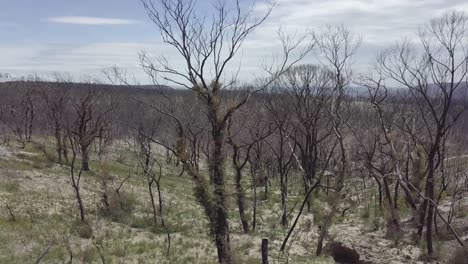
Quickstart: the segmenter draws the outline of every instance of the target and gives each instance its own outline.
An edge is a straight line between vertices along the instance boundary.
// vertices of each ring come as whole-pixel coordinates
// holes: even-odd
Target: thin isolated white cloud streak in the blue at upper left
[[[138,24],[138,20],[104,18],[104,17],[87,17],[87,16],[59,16],[49,17],[47,21],[60,24],[75,24],[75,25],[130,25]]]

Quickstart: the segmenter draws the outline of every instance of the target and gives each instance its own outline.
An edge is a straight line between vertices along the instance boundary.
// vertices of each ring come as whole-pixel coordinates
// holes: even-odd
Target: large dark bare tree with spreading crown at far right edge
[[[433,219],[436,177],[445,158],[445,138],[461,115],[453,101],[468,72],[468,18],[456,11],[432,19],[419,32],[422,53],[408,42],[384,52],[379,68],[389,79],[408,89],[423,121],[424,132],[415,135],[427,155],[420,227],[425,223],[427,253],[434,254]],[[419,229],[422,235],[422,228]]]

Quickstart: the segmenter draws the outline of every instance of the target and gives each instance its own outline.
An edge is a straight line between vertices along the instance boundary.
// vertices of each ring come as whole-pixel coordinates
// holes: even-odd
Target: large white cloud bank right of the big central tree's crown
[[[466,0],[276,0],[267,21],[254,32],[247,44],[273,43],[276,31],[319,31],[324,24],[348,27],[362,38],[354,59],[356,72],[365,72],[375,62],[375,55],[402,40],[417,40],[418,27],[447,10],[468,13]],[[254,6],[255,14],[267,10],[265,2]],[[267,47],[265,47],[267,48]],[[309,61],[311,58],[307,58]],[[306,60],[306,62],[309,62]]]

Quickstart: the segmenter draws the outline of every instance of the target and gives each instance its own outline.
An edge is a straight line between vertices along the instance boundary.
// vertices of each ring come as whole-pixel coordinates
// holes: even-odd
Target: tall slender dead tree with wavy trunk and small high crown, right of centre
[[[352,81],[352,59],[356,54],[361,40],[344,26],[325,26],[315,35],[319,58],[323,65],[331,72],[332,91],[328,115],[332,123],[332,132],[338,142],[338,162],[332,170],[334,174],[333,196],[329,198],[330,211],[324,217],[317,242],[316,255],[322,253],[323,240],[328,232],[333,217],[338,211],[341,190],[344,188],[346,176],[350,173],[348,160],[349,149],[345,146],[348,120],[350,117],[350,101],[348,99],[349,84]]]

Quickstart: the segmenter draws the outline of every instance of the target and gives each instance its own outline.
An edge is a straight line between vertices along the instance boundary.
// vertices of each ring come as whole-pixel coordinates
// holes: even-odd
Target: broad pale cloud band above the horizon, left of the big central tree
[[[128,70],[133,79],[148,83],[149,77],[141,70],[138,52],[164,55],[176,67],[183,67],[176,51],[161,42],[97,42],[87,44],[44,43],[35,45],[0,44],[0,72],[14,76],[54,72],[69,72],[75,80],[93,76],[103,79],[102,70],[118,66]],[[105,79],[104,79],[105,81]]]

